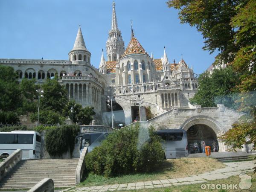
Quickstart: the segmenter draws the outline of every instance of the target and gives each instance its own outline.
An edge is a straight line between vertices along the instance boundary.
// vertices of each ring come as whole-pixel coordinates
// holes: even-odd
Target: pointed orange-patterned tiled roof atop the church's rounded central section
[[[125,52],[122,55],[122,57],[126,55],[131,55],[131,54],[148,55],[148,53],[145,51],[145,49],[141,46],[141,44],[135,37],[131,38],[131,41],[128,44],[127,48],[125,49]]]

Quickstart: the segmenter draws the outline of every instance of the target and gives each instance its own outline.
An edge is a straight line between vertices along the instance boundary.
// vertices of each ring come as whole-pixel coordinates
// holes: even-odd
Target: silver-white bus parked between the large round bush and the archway
[[[161,137],[161,143],[166,159],[186,157],[189,155],[188,139],[183,129],[163,129],[156,131]]]

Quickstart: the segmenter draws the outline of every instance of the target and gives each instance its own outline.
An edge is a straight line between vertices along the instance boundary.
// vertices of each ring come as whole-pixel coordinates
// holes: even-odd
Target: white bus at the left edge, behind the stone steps
[[[0,132],[0,155],[22,150],[22,159],[40,159],[41,136],[36,131]]]

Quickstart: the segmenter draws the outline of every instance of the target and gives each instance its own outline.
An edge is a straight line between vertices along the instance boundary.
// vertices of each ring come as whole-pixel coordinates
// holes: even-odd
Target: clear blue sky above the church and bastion
[[[118,27],[129,43],[130,20],[135,37],[154,58],[183,59],[202,73],[216,54],[203,51],[202,35],[180,24],[178,12],[166,0],[116,0]],[[111,28],[112,0],[0,0],[0,58],[68,59],[78,26],[91,52],[91,64],[99,67]]]

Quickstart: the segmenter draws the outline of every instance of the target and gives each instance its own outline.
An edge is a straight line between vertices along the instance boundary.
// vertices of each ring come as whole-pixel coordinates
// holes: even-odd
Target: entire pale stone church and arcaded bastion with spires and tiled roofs
[[[102,50],[99,69],[90,63],[91,53],[80,26],[68,60],[0,58],[0,64],[13,67],[18,81],[36,79],[42,84],[47,78],[58,77],[59,83],[67,89],[68,99],[83,107],[92,106],[98,114],[108,111],[107,96],[115,97],[124,111],[125,124],[137,116],[138,112],[134,111],[138,102],[142,108],[141,120],[145,120],[143,110],[146,107],[150,107],[155,116],[174,108],[188,108],[189,98],[198,90],[193,69],[183,58],[177,63],[170,62],[165,48],[162,58],[149,55],[135,37],[132,26],[130,42],[125,48],[114,2],[112,10],[111,30],[106,42],[107,61]],[[129,102],[120,102],[120,99]]]

